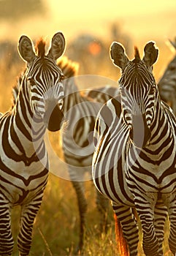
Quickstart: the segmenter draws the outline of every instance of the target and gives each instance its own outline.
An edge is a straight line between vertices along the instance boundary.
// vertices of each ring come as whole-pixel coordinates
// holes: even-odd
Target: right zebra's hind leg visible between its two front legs
[[[163,241],[164,241],[164,224],[167,219],[167,206],[164,206],[163,201],[158,200],[154,210],[154,225],[156,229],[156,236],[158,238],[158,255],[163,254]]]

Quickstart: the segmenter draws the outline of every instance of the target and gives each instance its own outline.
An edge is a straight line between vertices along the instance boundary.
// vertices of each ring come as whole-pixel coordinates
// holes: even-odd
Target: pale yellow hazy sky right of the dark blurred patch
[[[53,14],[53,27],[63,26],[66,33],[78,30],[107,33],[110,22],[118,22],[134,37],[167,37],[176,34],[175,0],[45,0]],[[50,4],[49,4],[50,3]],[[173,34],[173,37],[175,36]]]

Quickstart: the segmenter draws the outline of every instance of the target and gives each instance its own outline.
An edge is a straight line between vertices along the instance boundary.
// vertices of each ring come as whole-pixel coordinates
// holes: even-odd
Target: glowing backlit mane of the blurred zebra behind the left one
[[[79,64],[77,62],[71,61],[65,56],[62,57],[61,60],[57,61],[57,65],[64,73],[65,78],[72,78],[78,73]]]

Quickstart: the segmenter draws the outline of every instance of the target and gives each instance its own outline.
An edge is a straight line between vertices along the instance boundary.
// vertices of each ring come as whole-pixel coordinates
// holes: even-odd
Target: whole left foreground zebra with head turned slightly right
[[[18,51],[27,68],[12,108],[0,117],[0,255],[12,255],[11,209],[20,206],[18,250],[28,255],[34,219],[47,184],[49,162],[45,129],[61,129],[64,114],[63,73],[56,60],[64,53],[65,39],[56,33],[45,55],[45,42],[22,35]],[[57,118],[57,122],[56,122]]]

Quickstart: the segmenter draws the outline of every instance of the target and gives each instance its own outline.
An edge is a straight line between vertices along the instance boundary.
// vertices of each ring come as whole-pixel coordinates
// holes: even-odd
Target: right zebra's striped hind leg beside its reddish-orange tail
[[[137,256],[137,245],[139,242],[137,221],[134,217],[132,209],[129,206],[122,206],[112,203],[112,208],[115,211],[118,221],[123,230],[123,236],[129,246],[129,255]]]

